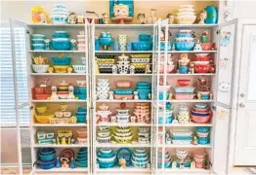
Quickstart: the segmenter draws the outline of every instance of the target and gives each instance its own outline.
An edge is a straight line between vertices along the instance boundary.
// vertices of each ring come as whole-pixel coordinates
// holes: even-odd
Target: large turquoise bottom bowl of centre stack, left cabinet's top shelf
[[[57,51],[67,51],[71,48],[70,39],[67,38],[54,38],[52,39],[51,44]]]

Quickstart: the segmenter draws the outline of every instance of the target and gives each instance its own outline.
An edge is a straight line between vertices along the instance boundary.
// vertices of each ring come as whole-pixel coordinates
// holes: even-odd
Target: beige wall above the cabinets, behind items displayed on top
[[[64,3],[70,12],[75,12],[77,14],[82,14],[85,9],[88,11],[94,11],[99,16],[103,13],[108,13],[108,0],[83,0],[83,1],[12,1],[12,2],[2,2],[1,8],[1,19],[7,20],[8,18],[15,18],[24,22],[30,22],[30,11],[31,8],[37,5],[42,6],[48,12],[54,7],[55,3]],[[194,5],[195,11],[201,11],[207,5],[218,6],[217,1],[157,1],[157,0],[134,0],[135,5],[135,15],[138,13],[145,13],[149,17],[150,8],[155,8],[157,10],[156,14],[158,18],[165,18],[170,12],[174,12],[175,9],[181,4],[192,4]],[[136,22],[136,21],[134,21]]]

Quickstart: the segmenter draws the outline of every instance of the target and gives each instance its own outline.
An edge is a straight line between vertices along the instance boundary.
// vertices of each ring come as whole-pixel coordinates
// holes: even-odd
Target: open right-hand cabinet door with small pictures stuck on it
[[[216,174],[226,174],[229,146],[229,123],[232,115],[234,89],[235,41],[237,20],[218,27],[218,61],[215,79],[216,110],[212,134],[212,169]]]

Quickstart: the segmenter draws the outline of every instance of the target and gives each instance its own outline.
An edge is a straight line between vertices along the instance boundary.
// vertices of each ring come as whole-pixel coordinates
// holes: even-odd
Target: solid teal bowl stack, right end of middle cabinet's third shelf
[[[138,91],[139,99],[147,100],[149,99],[149,93],[151,93],[151,86],[149,82],[138,82],[136,91]]]

